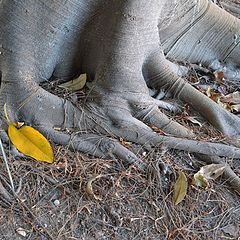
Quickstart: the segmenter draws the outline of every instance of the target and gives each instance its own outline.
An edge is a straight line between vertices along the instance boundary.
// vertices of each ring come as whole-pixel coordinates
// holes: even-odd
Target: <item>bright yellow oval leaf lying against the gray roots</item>
[[[26,125],[17,128],[13,123],[10,123],[8,136],[13,145],[26,156],[42,162],[53,162],[53,151],[50,143],[36,129]]]

